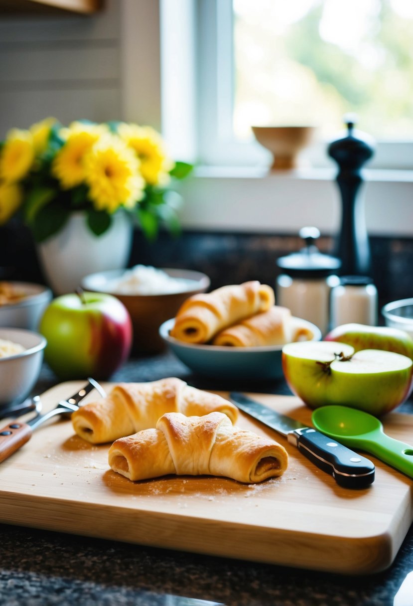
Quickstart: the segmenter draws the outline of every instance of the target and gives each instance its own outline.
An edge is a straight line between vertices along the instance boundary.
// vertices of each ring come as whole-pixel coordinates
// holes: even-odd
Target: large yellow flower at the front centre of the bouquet
[[[113,213],[119,206],[133,208],[144,196],[139,161],[116,135],[107,135],[93,145],[85,157],[85,177],[97,210]]]

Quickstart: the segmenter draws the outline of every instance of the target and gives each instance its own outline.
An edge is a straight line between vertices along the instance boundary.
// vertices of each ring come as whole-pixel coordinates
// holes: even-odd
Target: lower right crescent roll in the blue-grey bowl
[[[268,311],[257,313],[239,324],[222,330],[213,340],[213,345],[225,347],[262,347],[263,345],[285,345],[294,341],[309,341],[313,337],[309,328],[291,311],[273,305]]]

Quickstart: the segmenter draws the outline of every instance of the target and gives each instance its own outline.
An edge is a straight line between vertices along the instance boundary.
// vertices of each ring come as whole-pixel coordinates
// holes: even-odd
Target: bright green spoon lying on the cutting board
[[[345,446],[365,450],[413,478],[413,446],[390,438],[369,413],[348,406],[328,405],[312,413],[312,424]]]

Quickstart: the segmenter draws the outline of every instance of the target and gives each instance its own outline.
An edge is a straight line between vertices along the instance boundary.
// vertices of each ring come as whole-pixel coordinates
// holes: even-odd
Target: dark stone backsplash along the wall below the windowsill
[[[380,305],[413,297],[413,238],[371,236],[370,244]],[[137,230],[128,265],[203,271],[210,276],[211,288],[249,279],[274,286],[279,273],[276,259],[300,247],[297,235],[184,231],[174,239],[161,232],[150,243]],[[333,247],[332,238],[320,238],[320,250],[331,253]],[[7,278],[45,282],[30,232],[21,225],[11,223],[0,229],[0,267]]]

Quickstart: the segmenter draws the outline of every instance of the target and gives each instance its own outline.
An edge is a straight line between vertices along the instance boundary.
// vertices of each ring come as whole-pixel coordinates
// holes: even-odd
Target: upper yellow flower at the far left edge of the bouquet
[[[27,175],[35,158],[33,138],[28,130],[13,128],[7,135],[0,156],[0,178],[19,181]]]

